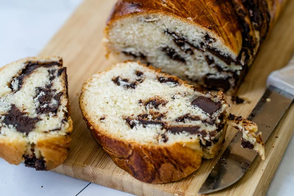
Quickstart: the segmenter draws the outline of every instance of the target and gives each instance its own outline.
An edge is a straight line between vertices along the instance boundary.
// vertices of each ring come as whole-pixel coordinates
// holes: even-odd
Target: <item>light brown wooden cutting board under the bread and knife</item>
[[[60,55],[68,67],[73,119],[73,142],[68,159],[54,172],[140,196],[195,196],[217,158],[203,160],[198,171],[177,182],[147,184],[117,167],[90,135],[78,105],[81,86],[92,74],[112,63],[101,45],[103,28],[115,0],[85,0],[50,40],[40,55]],[[232,105],[229,112],[248,116],[265,91],[266,78],[287,64],[294,51],[294,0],[290,0],[250,69],[238,95],[250,103]],[[228,98],[229,99],[229,98]],[[260,158],[232,187],[214,195],[265,195],[294,131],[294,105],[266,143],[266,160]],[[228,128],[225,146],[236,133]],[[98,193],[99,195],[99,193]]]

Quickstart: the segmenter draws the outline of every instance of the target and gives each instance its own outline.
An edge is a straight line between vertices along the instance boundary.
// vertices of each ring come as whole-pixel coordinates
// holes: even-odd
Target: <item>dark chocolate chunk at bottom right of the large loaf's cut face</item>
[[[211,74],[208,74],[206,77],[204,77],[204,84],[207,86],[207,89],[217,90],[221,88],[224,92],[230,89],[230,76],[226,78],[212,78],[210,75]]]

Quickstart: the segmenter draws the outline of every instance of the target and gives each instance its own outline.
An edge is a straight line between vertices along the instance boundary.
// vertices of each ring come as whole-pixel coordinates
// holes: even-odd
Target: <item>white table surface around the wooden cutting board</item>
[[[0,67],[37,55],[82,0],[0,0]],[[292,138],[267,196],[294,195]],[[130,196],[54,172],[0,159],[0,196]]]

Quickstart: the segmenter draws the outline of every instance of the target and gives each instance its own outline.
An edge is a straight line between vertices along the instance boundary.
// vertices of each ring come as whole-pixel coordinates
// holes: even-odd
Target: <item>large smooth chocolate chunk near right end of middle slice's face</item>
[[[219,109],[221,109],[221,103],[220,102],[214,102],[210,98],[206,98],[203,96],[200,96],[192,101],[192,105],[196,105],[200,109],[202,109],[204,112],[212,115]]]

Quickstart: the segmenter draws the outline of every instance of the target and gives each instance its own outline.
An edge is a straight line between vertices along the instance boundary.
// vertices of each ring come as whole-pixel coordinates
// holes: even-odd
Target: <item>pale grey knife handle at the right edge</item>
[[[267,86],[270,85],[294,96],[294,55],[286,67],[270,73]]]

